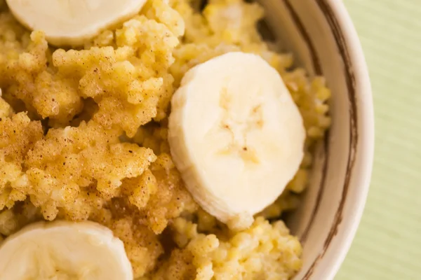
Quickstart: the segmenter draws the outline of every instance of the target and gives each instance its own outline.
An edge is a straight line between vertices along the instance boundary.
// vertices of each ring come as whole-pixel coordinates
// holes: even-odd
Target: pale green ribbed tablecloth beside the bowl
[[[335,280],[421,279],[421,0],[343,1],[370,69],[376,136],[366,210]]]

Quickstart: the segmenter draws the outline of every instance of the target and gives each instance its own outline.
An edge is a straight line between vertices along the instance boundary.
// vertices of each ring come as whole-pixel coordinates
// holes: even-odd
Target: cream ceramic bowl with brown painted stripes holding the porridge
[[[332,90],[332,127],[316,149],[312,183],[286,218],[304,246],[295,280],[333,279],[363,213],[373,163],[370,80],[359,38],[339,0],[260,0],[269,29],[310,76]]]

